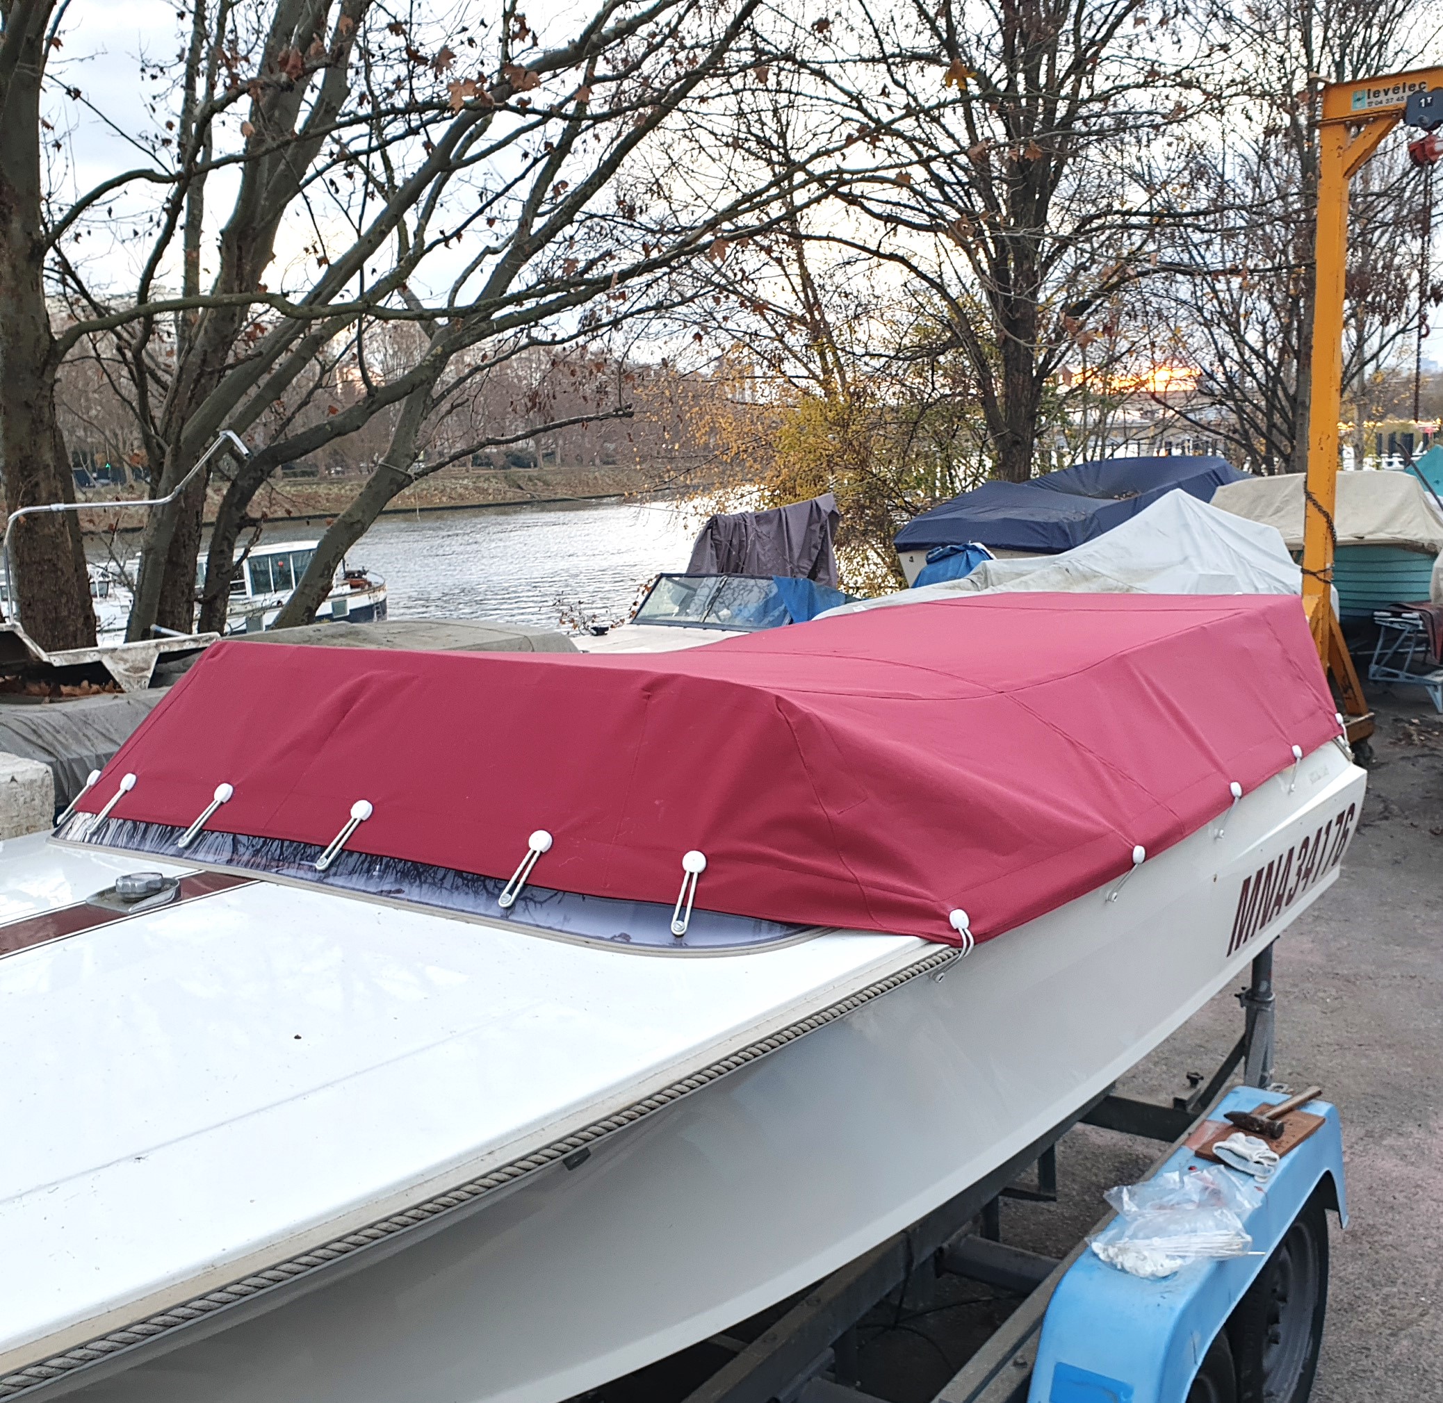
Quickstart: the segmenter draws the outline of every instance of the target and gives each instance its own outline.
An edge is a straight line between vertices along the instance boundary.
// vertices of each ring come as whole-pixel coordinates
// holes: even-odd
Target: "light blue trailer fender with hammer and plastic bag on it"
[[[1214,1119],[1277,1100],[1237,1087]],[[1072,1263],[1048,1305],[1027,1403],[1185,1403],[1218,1331],[1319,1185],[1346,1223],[1338,1110],[1306,1110],[1323,1125],[1283,1156],[1248,1214],[1248,1256],[1193,1262],[1163,1280],[1130,1276],[1091,1250]],[[1219,1168],[1179,1149],[1159,1172],[1202,1165]]]

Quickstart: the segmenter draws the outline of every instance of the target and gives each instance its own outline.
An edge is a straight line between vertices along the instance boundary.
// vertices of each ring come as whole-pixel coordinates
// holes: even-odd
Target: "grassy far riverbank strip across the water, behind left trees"
[[[266,521],[329,521],[339,515],[361,490],[364,479],[283,477],[267,483],[251,503],[251,513]],[[84,531],[139,531],[144,525],[140,509],[108,508],[107,502],[124,500],[143,484],[130,489],[95,492],[92,510],[81,512]],[[506,506],[561,506],[576,502],[605,502],[616,497],[645,499],[667,496],[674,490],[665,474],[638,467],[530,467],[483,469],[447,467],[423,477],[397,496],[382,516],[408,516],[423,512],[465,512]],[[690,490],[696,490],[691,487]],[[205,523],[215,519],[224,483],[206,499]]]

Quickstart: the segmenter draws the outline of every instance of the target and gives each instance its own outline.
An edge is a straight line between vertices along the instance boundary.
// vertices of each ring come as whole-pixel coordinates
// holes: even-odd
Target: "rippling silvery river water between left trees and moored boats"
[[[385,578],[391,619],[610,621],[661,570],[684,570],[700,522],[668,503],[595,502],[382,516],[348,554]],[[264,541],[317,536],[268,526]]]

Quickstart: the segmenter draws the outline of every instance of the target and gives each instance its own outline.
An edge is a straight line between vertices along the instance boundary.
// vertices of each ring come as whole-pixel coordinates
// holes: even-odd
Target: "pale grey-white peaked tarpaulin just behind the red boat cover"
[[[1219,492],[1224,489],[1218,489]],[[879,604],[916,604],[957,594],[1039,590],[1066,594],[1300,594],[1302,574],[1271,526],[1169,492],[1110,532],[1063,551],[983,561],[961,580],[863,600],[831,614]]]

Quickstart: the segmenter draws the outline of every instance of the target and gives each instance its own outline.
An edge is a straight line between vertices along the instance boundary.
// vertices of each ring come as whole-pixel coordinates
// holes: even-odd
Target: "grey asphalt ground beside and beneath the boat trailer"
[[[1274,1077],[1322,1084],[1343,1125],[1351,1218],[1346,1230],[1332,1220],[1313,1403],[1443,1403],[1443,715],[1421,692],[1369,701],[1378,731],[1343,872],[1276,944]],[[1242,1031],[1235,993],[1219,993],[1118,1090],[1167,1105],[1189,1071],[1211,1074]],[[1058,1145],[1058,1201],[1004,1200],[1003,1242],[1063,1256],[1105,1211],[1102,1191],[1134,1182],[1160,1151],[1078,1126]],[[922,1267],[863,1321],[856,1386],[926,1403],[1017,1299]],[[755,1338],[769,1319],[733,1334]],[[709,1350],[593,1397],[683,1397],[723,1363]]]

